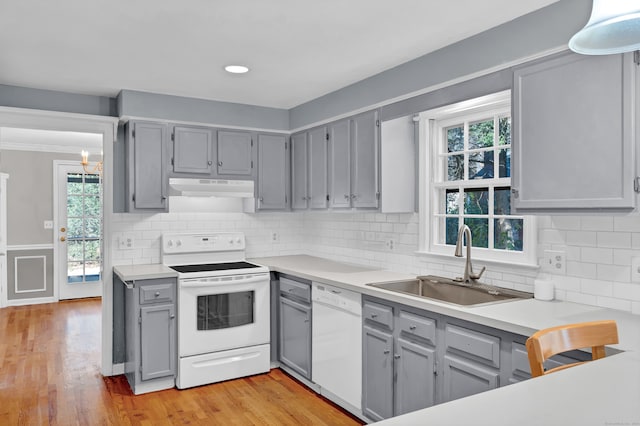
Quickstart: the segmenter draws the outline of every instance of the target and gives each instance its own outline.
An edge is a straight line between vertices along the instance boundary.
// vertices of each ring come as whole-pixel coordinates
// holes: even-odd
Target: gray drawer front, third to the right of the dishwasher
[[[447,350],[463,352],[493,367],[500,367],[500,338],[453,324],[445,328]]]

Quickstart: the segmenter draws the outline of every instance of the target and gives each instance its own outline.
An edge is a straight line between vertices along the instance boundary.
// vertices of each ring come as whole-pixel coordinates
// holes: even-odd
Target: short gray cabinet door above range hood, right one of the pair
[[[218,174],[251,176],[252,169],[251,133],[218,131]]]

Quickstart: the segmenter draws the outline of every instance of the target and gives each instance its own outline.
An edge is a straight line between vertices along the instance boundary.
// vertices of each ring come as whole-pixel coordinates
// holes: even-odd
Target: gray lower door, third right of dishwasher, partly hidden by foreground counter
[[[440,402],[452,401],[476,393],[495,389],[500,373],[480,363],[444,356],[444,394]]]

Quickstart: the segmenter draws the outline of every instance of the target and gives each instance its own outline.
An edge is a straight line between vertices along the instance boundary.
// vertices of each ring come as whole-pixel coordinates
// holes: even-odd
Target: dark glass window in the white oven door
[[[253,291],[198,296],[198,330],[220,330],[253,323]]]

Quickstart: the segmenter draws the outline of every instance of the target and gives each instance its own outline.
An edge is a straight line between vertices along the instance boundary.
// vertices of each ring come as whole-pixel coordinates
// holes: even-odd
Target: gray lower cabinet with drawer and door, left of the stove
[[[124,283],[125,375],[134,394],[175,385],[176,279]]]

